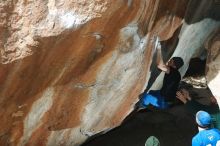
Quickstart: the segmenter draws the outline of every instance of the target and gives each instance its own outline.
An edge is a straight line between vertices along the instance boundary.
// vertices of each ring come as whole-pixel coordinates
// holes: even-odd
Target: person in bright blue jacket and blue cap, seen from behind
[[[205,111],[196,113],[199,132],[192,139],[192,146],[220,146],[220,131],[211,128],[211,116]]]

